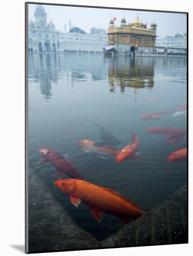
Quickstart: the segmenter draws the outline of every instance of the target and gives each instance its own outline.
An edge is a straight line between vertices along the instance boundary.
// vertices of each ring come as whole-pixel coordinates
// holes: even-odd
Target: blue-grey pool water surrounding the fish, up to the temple
[[[42,160],[39,148],[67,154],[88,182],[114,189],[146,211],[186,183],[186,162],[166,162],[170,153],[186,148],[186,141],[169,144],[166,136],[146,132],[152,127],[186,128],[185,115],[173,117],[176,108],[186,104],[186,58],[29,54],[28,69],[29,168],[37,171],[82,229],[102,240],[124,224],[107,214],[99,223],[84,203],[74,207],[53,185],[57,177],[51,163],[34,166]],[[167,109],[172,112],[161,118],[140,118]],[[114,146],[117,149],[128,145],[134,132],[140,155],[116,163],[113,157],[83,152],[77,141],[101,142],[92,122],[122,141]]]

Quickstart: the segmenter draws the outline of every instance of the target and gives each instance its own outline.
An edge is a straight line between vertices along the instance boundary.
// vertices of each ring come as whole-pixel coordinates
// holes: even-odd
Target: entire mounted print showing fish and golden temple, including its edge
[[[26,3],[26,253],[188,243],[186,28]]]

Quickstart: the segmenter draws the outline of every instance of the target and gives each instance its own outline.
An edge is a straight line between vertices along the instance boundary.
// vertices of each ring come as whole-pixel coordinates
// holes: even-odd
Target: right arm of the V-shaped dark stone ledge
[[[103,240],[100,247],[188,243],[186,212],[183,186],[158,207]]]

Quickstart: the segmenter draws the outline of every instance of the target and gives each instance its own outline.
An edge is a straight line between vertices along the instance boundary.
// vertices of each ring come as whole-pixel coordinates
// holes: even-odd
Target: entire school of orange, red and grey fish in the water
[[[146,98],[140,101],[156,100],[156,98]],[[140,118],[156,119],[170,112],[171,110],[153,112],[141,115]],[[177,112],[175,112],[173,116],[185,115],[185,112],[186,105],[183,105],[177,108]],[[94,142],[88,139],[77,141],[77,144],[85,153],[91,153],[102,159],[113,157],[117,163],[134,159],[139,155],[139,138],[133,132],[131,132],[131,143],[118,150],[109,146],[119,145],[122,142],[108,132],[106,128],[101,127],[95,122],[93,122],[93,124],[99,128],[102,142]],[[148,133],[169,136],[168,142],[170,144],[184,141],[186,136],[186,129],[184,128],[147,128],[146,131]],[[119,216],[124,223],[129,223],[146,213],[141,210],[136,203],[120,195],[118,192],[85,181],[84,177],[77,171],[72,162],[67,159],[66,155],[60,154],[51,148],[40,148],[39,152],[43,158],[40,163],[50,162],[56,169],[58,180],[54,182],[54,185],[63,193],[69,195],[70,201],[76,207],[79,206],[80,202],[90,207],[93,217],[98,222],[102,221],[102,213]],[[182,148],[168,155],[166,161],[170,163],[184,162],[186,158],[187,149]],[[61,179],[64,175],[68,176],[69,179]]]

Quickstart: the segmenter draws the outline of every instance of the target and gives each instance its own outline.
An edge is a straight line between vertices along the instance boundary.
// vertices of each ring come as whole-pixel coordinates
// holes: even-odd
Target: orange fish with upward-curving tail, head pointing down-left
[[[139,152],[137,152],[139,139],[134,133],[131,133],[131,135],[133,137],[132,142],[118,152],[118,154],[115,157],[116,162],[123,162],[128,158],[133,158],[134,156],[140,154]]]

